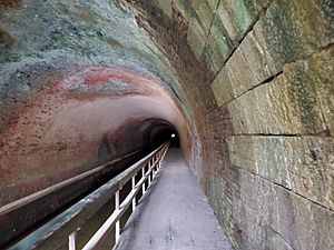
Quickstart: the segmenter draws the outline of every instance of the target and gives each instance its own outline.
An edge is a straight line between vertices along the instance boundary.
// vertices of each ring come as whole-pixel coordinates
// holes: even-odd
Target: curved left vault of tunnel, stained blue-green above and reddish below
[[[127,3],[0,8],[0,204],[150,147],[161,124],[189,143],[177,78]]]

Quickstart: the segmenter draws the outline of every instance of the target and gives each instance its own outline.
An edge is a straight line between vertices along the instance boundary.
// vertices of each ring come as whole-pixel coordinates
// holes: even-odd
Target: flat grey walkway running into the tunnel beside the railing
[[[131,216],[117,250],[230,250],[178,149]]]

